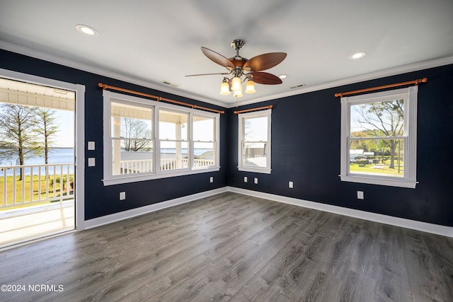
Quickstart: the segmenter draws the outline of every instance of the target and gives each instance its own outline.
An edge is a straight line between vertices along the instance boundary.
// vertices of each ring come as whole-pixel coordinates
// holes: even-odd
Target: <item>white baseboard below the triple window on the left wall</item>
[[[123,219],[129,219],[134,216],[139,216],[153,211],[159,211],[168,207],[174,207],[178,204],[185,204],[186,202],[193,202],[194,200],[209,197],[215,194],[227,192],[228,187],[221,187],[219,189],[200,192],[197,194],[192,194],[184,197],[179,197],[176,199],[167,200],[165,202],[158,202],[156,204],[149,204],[148,206],[139,207],[135,209],[130,209],[127,211],[122,211],[115,214],[105,215],[102,217],[88,219],[84,221],[84,229],[96,228],[96,226],[103,226],[104,224],[113,223]]]

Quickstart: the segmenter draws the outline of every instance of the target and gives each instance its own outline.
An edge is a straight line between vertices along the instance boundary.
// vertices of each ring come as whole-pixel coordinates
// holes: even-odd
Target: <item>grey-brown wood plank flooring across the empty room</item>
[[[0,301],[448,302],[453,238],[228,192],[1,252],[0,284],[25,286]]]

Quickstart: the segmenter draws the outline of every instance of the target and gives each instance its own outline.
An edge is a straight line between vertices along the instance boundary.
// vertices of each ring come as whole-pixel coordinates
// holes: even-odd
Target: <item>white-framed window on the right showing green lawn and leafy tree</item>
[[[341,180],[415,187],[417,91],[341,98]]]

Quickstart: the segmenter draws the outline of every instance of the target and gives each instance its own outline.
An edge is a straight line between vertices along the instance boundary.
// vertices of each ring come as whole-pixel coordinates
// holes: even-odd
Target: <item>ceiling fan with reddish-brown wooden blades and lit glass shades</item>
[[[231,42],[231,47],[236,50],[236,56],[227,59],[213,50],[201,47],[201,51],[208,59],[221,66],[226,67],[229,72],[217,73],[223,76],[232,75],[231,79],[224,77],[220,86],[221,95],[229,95],[231,91],[234,92],[234,97],[239,98],[242,95],[241,83],[247,80],[246,93],[255,93],[255,83],[265,85],[281,84],[282,80],[273,74],[263,72],[263,70],[270,69],[277,64],[280,64],[287,54],[285,52],[271,52],[268,54],[260,54],[251,59],[246,59],[239,55],[239,50],[245,45],[243,40],[234,40]],[[191,74],[188,76],[208,76],[214,74]],[[243,78],[243,79],[242,79]]]

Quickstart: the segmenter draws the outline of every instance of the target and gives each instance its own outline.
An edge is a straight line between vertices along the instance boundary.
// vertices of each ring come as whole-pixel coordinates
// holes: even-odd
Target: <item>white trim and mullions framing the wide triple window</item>
[[[176,112],[187,112],[189,114],[189,121],[190,121],[190,126],[189,126],[189,138],[188,141],[190,141],[189,148],[191,149],[190,153],[192,156],[190,156],[190,167],[185,168],[185,169],[179,169],[179,170],[164,170],[164,171],[154,171],[150,173],[141,173],[141,174],[126,174],[126,175],[112,175],[112,154],[110,152],[111,149],[111,122],[110,122],[110,116],[111,116],[111,102],[112,100],[115,101],[120,101],[120,102],[127,102],[127,103],[135,103],[137,106],[145,106],[152,108],[153,110],[153,140],[155,142],[154,144],[154,150],[159,150],[159,109],[164,109],[164,110],[171,110],[171,111],[176,111]],[[193,115],[197,116],[205,116],[205,117],[213,117],[215,119],[215,135],[216,135],[216,140],[215,140],[215,164],[212,165],[209,168],[192,168],[193,167],[193,140],[191,139],[193,137],[192,133],[192,125],[191,122],[193,121]],[[144,98],[137,98],[132,95],[123,95],[120,93],[114,93],[112,91],[103,91],[103,125],[104,125],[104,139],[103,139],[103,147],[104,147],[104,156],[103,156],[103,184],[104,185],[118,185],[122,183],[128,183],[128,182],[139,182],[139,181],[144,181],[144,180],[155,180],[155,179],[160,179],[160,178],[172,178],[176,176],[181,176],[181,175],[193,175],[193,174],[199,174],[199,173],[208,173],[208,172],[214,172],[220,170],[220,151],[219,151],[219,120],[220,120],[220,115],[218,113],[213,113],[213,112],[207,112],[203,110],[196,110],[193,108],[185,108],[183,106],[178,106],[178,105],[172,105],[168,103],[162,103],[162,102],[156,102],[154,100],[148,100]],[[154,152],[154,161],[157,162],[159,159],[159,152]]]

